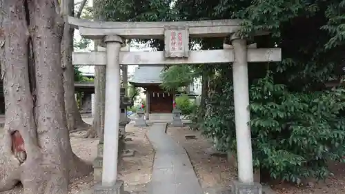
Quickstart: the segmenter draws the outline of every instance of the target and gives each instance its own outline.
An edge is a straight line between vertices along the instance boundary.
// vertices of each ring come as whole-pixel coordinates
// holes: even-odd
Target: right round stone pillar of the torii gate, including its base
[[[233,193],[262,193],[262,186],[254,183],[252,139],[250,135],[250,111],[248,88],[247,41],[232,35],[233,87],[235,104],[235,128],[237,139],[238,181],[233,184]]]

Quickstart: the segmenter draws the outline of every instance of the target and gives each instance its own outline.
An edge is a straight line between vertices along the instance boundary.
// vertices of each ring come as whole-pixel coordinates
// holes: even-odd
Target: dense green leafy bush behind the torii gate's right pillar
[[[221,79],[219,77],[218,79]],[[220,80],[219,80],[220,81]],[[221,86],[221,104],[208,107],[204,134],[217,139],[220,150],[236,153],[233,89]],[[253,165],[270,177],[299,183],[302,177],[329,175],[327,162],[342,161],[345,151],[344,90],[291,93],[274,84],[269,73],[250,86]],[[216,102],[216,101],[215,101]]]

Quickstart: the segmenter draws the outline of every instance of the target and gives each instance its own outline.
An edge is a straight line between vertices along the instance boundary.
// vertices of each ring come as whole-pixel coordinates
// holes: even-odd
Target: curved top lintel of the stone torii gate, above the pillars
[[[106,35],[119,35],[125,39],[162,39],[166,26],[188,26],[190,37],[227,37],[241,28],[242,20],[114,22],[68,17],[68,23],[79,28],[80,35],[88,39],[102,39]],[[257,32],[257,35],[267,34]]]

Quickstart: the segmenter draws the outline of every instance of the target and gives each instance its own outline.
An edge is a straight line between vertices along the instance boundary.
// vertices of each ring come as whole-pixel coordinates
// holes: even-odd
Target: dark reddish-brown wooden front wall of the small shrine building
[[[159,86],[148,86],[150,94],[149,104],[150,113],[171,113],[174,95],[166,93]]]

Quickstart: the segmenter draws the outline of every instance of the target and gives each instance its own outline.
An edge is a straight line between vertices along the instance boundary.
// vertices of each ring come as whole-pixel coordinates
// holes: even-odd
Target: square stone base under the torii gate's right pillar
[[[235,181],[231,187],[233,194],[262,194],[262,185],[259,183],[242,183]]]

